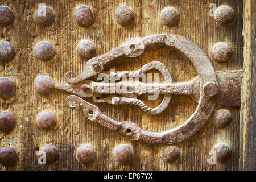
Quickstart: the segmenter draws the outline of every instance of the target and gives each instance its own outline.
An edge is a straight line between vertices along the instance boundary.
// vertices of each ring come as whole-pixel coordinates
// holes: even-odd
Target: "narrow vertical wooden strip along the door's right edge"
[[[243,50],[245,72],[242,82],[240,113],[240,170],[256,170],[255,158],[255,113],[256,113],[256,1],[245,1],[243,10]]]

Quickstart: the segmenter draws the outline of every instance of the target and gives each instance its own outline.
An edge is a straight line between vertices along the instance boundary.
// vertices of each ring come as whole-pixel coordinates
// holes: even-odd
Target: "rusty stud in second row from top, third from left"
[[[90,40],[82,40],[77,44],[77,53],[81,59],[90,59],[96,56],[96,46]]]

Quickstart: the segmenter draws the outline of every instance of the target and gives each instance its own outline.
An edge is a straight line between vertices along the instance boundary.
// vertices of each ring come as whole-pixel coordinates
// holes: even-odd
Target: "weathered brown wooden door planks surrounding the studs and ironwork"
[[[55,10],[56,20],[51,27],[40,28],[34,20],[34,13],[39,3],[46,3]],[[209,3],[233,7],[236,18],[230,27],[219,26],[209,16]],[[1,40],[8,40],[16,48],[13,61],[0,65],[0,76],[12,78],[18,89],[7,100],[0,100],[0,111],[8,110],[16,115],[18,125],[10,133],[0,131],[0,147],[13,146],[19,152],[19,162],[5,170],[234,170],[238,169],[240,107],[226,107],[232,111],[233,120],[224,129],[215,127],[209,119],[207,124],[193,137],[174,144],[180,147],[181,158],[174,164],[164,163],[160,159],[160,150],[164,146],[150,146],[131,142],[119,137],[112,131],[85,119],[82,110],[68,109],[64,100],[68,93],[55,90],[49,96],[35,93],[33,82],[38,75],[48,75],[57,82],[64,82],[68,71],[81,73],[85,69],[76,53],[76,45],[81,39],[90,39],[97,46],[97,55],[118,47],[129,38],[151,34],[177,34],[198,44],[212,60],[216,70],[241,69],[243,66],[242,13],[243,1],[215,0],[130,0],[130,1],[1,1],[1,5],[10,6],[15,11],[14,23],[1,27]],[[92,7],[95,14],[94,24],[88,28],[77,26],[73,12],[79,5]],[[121,27],[115,22],[114,13],[118,6],[129,5],[136,13],[132,26]],[[166,6],[174,6],[180,11],[177,26],[168,27],[160,23],[160,11]],[[52,61],[43,62],[35,58],[33,49],[36,43],[48,40],[53,43],[56,55]],[[228,42],[233,47],[232,59],[226,63],[214,61],[210,49],[217,42]],[[166,48],[157,48],[145,52],[136,59],[121,59],[111,64],[108,69],[137,70],[150,61],[161,61],[171,72],[173,82],[189,81],[197,75],[192,63],[180,53]],[[86,99],[92,102],[90,99]],[[159,101],[148,101],[156,105]],[[112,106],[96,104],[110,118],[118,121],[134,121],[144,130],[163,131],[183,123],[195,110],[196,103],[188,96],[172,96],[167,109],[156,116],[143,113],[138,107],[130,105]],[[43,131],[36,126],[36,115],[45,109],[52,110],[58,118],[57,127],[52,131]],[[208,154],[217,142],[229,143],[232,158],[226,164],[208,164]],[[58,162],[40,166],[35,153],[38,147],[51,143],[59,148]],[[98,152],[97,162],[89,167],[82,166],[75,157],[81,144],[89,143]],[[128,166],[119,165],[113,157],[113,149],[118,144],[130,144],[135,151],[135,158]]]

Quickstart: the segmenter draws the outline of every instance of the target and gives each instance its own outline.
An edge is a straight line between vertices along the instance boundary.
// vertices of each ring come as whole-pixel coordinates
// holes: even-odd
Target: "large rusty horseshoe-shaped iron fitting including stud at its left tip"
[[[121,57],[141,56],[146,49],[156,46],[170,47],[180,51],[192,61],[199,75],[189,82],[172,83],[167,67],[158,61],[145,64],[137,71],[104,72],[106,65],[113,61]],[[131,140],[169,144],[181,142],[204,126],[216,105],[240,105],[243,71],[215,71],[207,54],[191,40],[179,35],[159,34],[127,40],[120,47],[88,60],[85,68],[85,71],[79,76],[74,72],[68,72],[65,75],[67,84],[55,84],[50,77],[39,76],[34,82],[35,90],[39,94],[49,94],[53,89],[75,94],[67,97],[69,107],[75,108],[69,105],[69,101],[75,101],[83,108],[86,118]],[[158,70],[164,81],[153,83],[143,81],[143,74],[151,69]],[[99,74],[107,81],[89,80],[89,78],[100,76]],[[130,78],[133,78],[133,81]],[[108,93],[109,96],[102,97],[102,93]],[[164,95],[160,105],[155,108],[147,106],[138,98],[142,94],[152,95],[152,93]],[[195,112],[182,125],[160,133],[144,131],[132,121],[114,121],[102,114],[97,106],[81,98],[92,97],[93,101],[97,103],[137,105],[148,114],[160,114],[168,106],[172,94],[189,95],[198,105]]]

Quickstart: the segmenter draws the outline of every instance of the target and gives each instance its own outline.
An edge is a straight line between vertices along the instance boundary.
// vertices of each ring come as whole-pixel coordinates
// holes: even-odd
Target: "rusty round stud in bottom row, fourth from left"
[[[128,164],[134,157],[134,150],[127,144],[121,144],[114,150],[114,158],[120,164]]]

